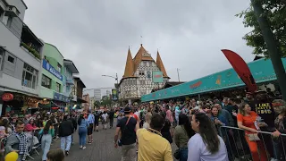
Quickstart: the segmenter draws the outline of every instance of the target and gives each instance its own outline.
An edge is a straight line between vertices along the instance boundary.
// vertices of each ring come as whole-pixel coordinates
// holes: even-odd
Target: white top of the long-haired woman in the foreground
[[[220,140],[220,148],[216,153],[211,154],[206,149],[200,134],[196,133],[192,136],[188,142],[188,161],[229,161],[225,143],[220,136],[218,138]]]

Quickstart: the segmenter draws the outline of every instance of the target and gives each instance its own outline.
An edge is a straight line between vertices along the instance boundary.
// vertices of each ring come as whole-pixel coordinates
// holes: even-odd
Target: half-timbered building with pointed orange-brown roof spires
[[[152,80],[152,73],[157,71],[163,72],[164,81],[161,83]],[[155,61],[142,45],[134,58],[129,49],[124,75],[119,83],[119,99],[129,103],[139,101],[141,96],[150,93],[152,89],[164,87],[169,79],[159,52]]]

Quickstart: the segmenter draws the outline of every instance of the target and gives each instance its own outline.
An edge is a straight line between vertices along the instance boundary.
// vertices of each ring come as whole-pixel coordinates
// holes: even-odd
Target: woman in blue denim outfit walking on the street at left
[[[87,134],[88,134],[88,121],[84,118],[83,114],[80,114],[78,120],[79,124],[79,136],[80,136],[80,148],[85,149],[87,144]]]

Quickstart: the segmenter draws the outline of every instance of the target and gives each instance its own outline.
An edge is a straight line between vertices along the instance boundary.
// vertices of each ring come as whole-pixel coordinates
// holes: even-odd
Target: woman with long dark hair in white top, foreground
[[[228,161],[227,149],[211,119],[204,113],[192,115],[191,128],[196,134],[188,142],[188,161]]]

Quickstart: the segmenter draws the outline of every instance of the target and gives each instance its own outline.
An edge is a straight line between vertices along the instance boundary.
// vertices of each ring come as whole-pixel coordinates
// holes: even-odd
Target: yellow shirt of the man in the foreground
[[[173,161],[168,140],[146,129],[139,129],[136,133],[139,141],[138,161]]]

